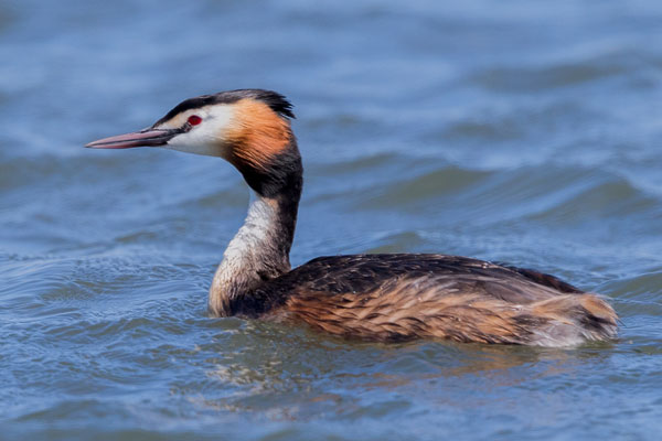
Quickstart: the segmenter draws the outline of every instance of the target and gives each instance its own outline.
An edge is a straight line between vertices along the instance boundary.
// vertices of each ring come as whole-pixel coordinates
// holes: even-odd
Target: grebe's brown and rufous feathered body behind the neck
[[[557,346],[616,333],[616,313],[594,294],[537,271],[457,256],[321,257],[255,294],[256,304],[291,320],[366,340]]]

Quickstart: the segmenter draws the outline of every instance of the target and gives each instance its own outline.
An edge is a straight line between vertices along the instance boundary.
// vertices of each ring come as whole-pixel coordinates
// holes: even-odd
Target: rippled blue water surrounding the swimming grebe
[[[656,439],[661,20],[653,0],[0,3],[0,438]],[[209,318],[238,173],[82,146],[239,87],[296,105],[293,263],[534,267],[608,297],[620,338],[380,345]]]

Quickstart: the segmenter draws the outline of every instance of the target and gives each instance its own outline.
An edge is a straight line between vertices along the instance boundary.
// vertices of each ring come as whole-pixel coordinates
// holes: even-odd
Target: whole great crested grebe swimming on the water
[[[599,297],[531,269],[446,255],[319,257],[290,270],[303,168],[291,104],[241,89],[182,101],[153,126],[86,147],[163,147],[221,157],[255,193],[223,255],[214,316],[291,320],[346,337],[566,346],[617,334]]]

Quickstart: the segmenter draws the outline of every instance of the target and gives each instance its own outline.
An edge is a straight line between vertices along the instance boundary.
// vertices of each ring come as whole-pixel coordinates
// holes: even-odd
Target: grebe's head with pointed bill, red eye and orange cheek
[[[203,95],[180,103],[147,129],[85,147],[161,147],[221,157],[237,168],[258,194],[273,196],[302,172],[290,129],[291,107],[282,95],[263,89]]]

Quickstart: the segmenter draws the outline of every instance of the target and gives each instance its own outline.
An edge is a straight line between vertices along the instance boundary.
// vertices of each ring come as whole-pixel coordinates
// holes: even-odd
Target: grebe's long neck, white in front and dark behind
[[[278,173],[265,176],[239,169],[253,189],[252,198],[244,225],[223,254],[210,289],[209,309],[215,316],[243,313],[243,306],[254,303],[250,295],[257,287],[290,270],[302,168],[295,141],[288,150],[280,158],[284,163],[276,166]]]

